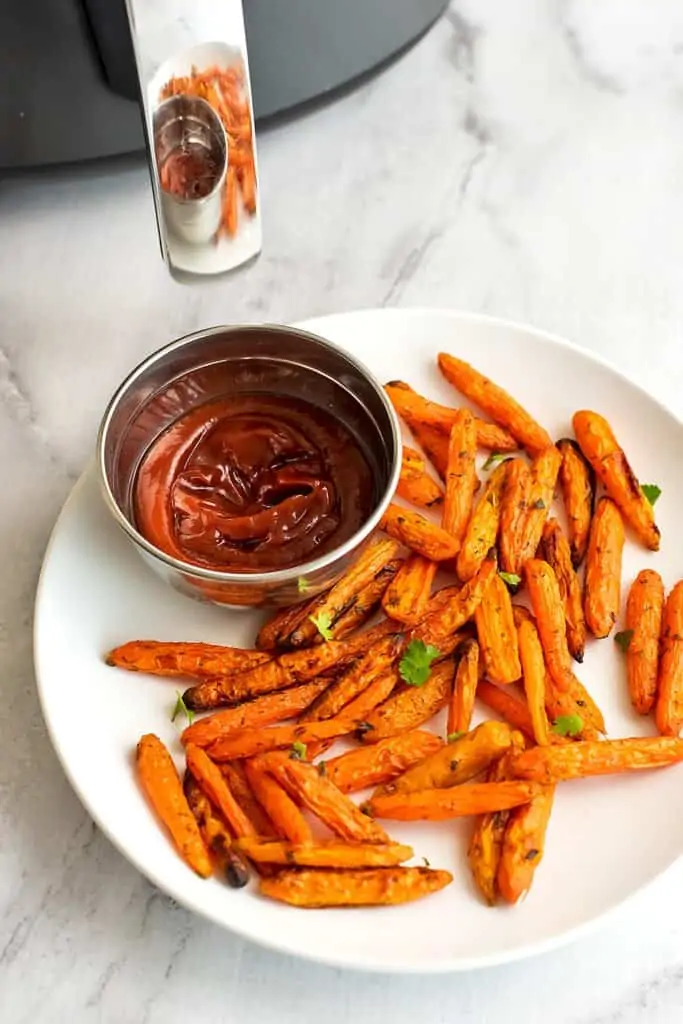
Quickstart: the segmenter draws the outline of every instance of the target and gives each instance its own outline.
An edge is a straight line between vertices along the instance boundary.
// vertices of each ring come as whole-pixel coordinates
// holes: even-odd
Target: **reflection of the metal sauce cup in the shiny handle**
[[[227,170],[227,137],[220,118],[205,99],[182,94],[171,96],[154,113],[154,139],[159,190],[168,228],[190,245],[205,245],[220,225]],[[189,148],[204,152],[213,160],[216,179],[205,196],[183,199],[166,191],[161,176],[166,160],[177,151]]]

